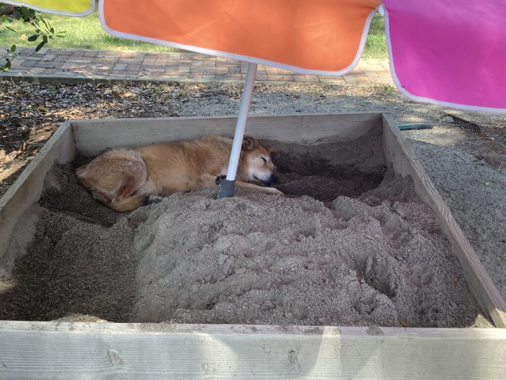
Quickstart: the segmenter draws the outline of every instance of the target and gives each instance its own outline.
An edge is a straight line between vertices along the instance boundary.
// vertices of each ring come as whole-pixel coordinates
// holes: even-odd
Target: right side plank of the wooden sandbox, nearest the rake
[[[483,268],[450,209],[437,192],[431,179],[389,115],[383,115],[383,151],[395,172],[413,178],[416,194],[426,202],[444,225],[446,237],[453,245],[462,272],[481,309],[489,314],[496,327],[506,327],[506,302]],[[506,360],[506,358],[504,358]]]

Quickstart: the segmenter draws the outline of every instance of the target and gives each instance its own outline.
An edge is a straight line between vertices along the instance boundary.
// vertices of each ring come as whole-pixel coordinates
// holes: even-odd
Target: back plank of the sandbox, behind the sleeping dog
[[[190,140],[205,134],[233,136],[237,117],[73,120],[76,147],[95,156],[109,147],[137,147],[154,142]],[[314,144],[349,141],[381,124],[381,113],[250,115],[246,134],[283,142]]]

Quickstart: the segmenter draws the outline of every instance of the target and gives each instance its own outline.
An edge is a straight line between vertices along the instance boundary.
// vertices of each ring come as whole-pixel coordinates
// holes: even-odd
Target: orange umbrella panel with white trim
[[[131,40],[342,75],[360,59],[379,0],[101,0],[102,27]]]

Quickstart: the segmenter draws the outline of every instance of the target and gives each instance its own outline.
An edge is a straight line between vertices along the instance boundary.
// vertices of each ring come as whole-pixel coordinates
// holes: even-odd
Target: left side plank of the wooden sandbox
[[[63,123],[28,164],[7,193],[0,198],[0,259],[9,247],[12,232],[21,215],[40,198],[44,177],[55,160],[64,163],[75,156],[70,123]]]

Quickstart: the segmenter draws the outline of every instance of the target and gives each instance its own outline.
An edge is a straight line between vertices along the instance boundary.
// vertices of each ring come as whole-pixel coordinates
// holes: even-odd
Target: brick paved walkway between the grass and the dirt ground
[[[12,67],[2,76],[48,82],[85,80],[238,82],[247,63],[194,53],[121,52],[111,50],[61,50],[18,48]],[[269,66],[258,66],[258,81],[327,84],[392,84],[388,60],[362,59],[342,77],[303,75]]]

